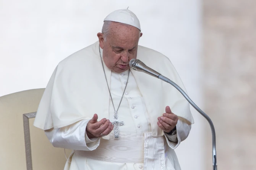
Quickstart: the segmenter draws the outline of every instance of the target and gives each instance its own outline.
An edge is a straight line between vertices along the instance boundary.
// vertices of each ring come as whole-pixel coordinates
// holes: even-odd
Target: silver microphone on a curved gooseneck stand
[[[212,131],[212,166],[213,170],[217,170],[217,153],[216,153],[216,135],[215,135],[215,129],[214,125],[212,123],[212,120],[207,116],[206,113],[203,112],[191,99],[188,97],[188,95],[178,86],[176,83],[174,83],[169,78],[161,75],[157,71],[153,70],[152,68],[147,67],[141,60],[138,59],[131,59],[129,62],[130,68],[136,71],[141,71],[143,73],[147,73],[148,75],[151,75],[153,77],[159,78],[169,84],[171,84],[173,87],[175,87],[185,98],[186,100],[202,115],[206,120],[209,122],[211,131]]]

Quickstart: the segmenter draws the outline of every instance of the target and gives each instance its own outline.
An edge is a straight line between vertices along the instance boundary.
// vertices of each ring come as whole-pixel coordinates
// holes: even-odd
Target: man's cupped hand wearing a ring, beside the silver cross
[[[98,115],[94,114],[93,118],[89,120],[86,126],[86,134],[88,138],[92,137],[102,137],[102,135],[108,135],[114,128],[112,123],[106,118],[97,121]]]

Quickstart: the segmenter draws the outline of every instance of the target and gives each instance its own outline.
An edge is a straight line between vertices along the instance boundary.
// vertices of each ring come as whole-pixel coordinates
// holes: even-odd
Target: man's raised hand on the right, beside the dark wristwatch
[[[163,116],[158,117],[157,125],[164,130],[164,132],[169,133],[174,129],[178,122],[178,116],[173,114],[170,107],[166,106]]]

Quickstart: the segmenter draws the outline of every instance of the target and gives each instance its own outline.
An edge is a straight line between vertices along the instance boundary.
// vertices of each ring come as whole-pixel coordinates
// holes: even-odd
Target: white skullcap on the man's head
[[[141,31],[141,25],[139,24],[139,19],[130,10],[116,10],[105,17],[104,21],[114,21],[123,24],[128,24],[133,27],[138,28]]]

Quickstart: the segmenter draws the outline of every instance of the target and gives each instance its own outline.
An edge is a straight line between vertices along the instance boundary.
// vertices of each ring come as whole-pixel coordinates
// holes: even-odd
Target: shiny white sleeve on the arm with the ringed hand
[[[45,134],[56,148],[92,151],[99,146],[100,138],[87,137],[88,122],[89,120],[84,119],[62,128],[45,130]]]

